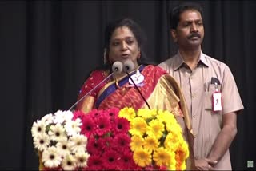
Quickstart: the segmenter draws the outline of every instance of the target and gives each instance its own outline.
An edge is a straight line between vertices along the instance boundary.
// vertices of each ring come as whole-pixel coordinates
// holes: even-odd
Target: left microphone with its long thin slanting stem
[[[109,74],[106,78],[104,78],[102,80],[102,82],[98,83],[98,85],[101,85],[103,82],[105,82],[108,78],[110,78],[113,74],[116,74],[116,73],[121,73],[122,72],[122,62],[114,62],[114,64],[112,65],[112,73]],[[98,85],[94,86],[93,89],[90,89],[90,91],[88,93],[86,93],[83,97],[81,97],[78,101],[76,101],[74,103],[74,105],[72,105],[70,107],[69,110],[73,109],[75,105],[78,105],[78,103],[80,101],[82,101],[82,99],[84,99],[86,96],[88,96],[88,94],[90,94],[92,91],[94,91],[94,89],[96,89],[98,87]]]

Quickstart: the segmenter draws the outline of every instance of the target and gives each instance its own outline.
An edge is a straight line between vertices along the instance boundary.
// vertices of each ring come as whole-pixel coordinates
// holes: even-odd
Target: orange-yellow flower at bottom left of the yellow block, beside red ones
[[[134,162],[141,167],[151,164],[151,153],[146,149],[138,149],[134,151]]]

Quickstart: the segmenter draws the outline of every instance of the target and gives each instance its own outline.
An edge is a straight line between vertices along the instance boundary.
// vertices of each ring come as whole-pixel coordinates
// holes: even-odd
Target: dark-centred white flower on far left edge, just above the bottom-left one
[[[50,137],[46,133],[38,134],[34,137],[34,147],[39,151],[45,150],[50,145]]]

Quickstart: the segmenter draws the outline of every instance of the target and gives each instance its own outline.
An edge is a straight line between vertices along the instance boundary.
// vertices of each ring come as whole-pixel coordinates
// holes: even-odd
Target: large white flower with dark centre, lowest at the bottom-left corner
[[[58,167],[61,164],[62,157],[58,153],[58,149],[54,146],[42,152],[42,163],[49,168]]]

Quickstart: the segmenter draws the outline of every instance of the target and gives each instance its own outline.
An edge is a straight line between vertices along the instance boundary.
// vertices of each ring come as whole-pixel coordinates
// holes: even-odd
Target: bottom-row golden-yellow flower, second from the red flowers
[[[175,153],[160,147],[154,151],[153,160],[158,166],[168,166],[175,162]]]

